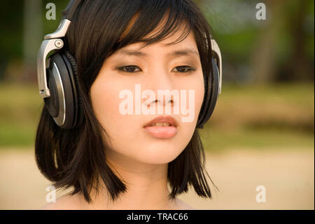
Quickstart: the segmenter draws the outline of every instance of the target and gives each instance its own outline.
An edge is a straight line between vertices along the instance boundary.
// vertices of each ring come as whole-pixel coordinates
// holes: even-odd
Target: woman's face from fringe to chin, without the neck
[[[90,97],[97,119],[111,137],[109,142],[104,135],[111,147],[106,149],[107,157],[165,164],[176,159],[188,145],[202,106],[204,79],[193,33],[178,44],[165,45],[179,38],[180,34],[178,32],[141,50],[138,48],[143,43],[125,46],[104,61],[90,89]],[[191,51],[172,54],[186,50]],[[151,98],[148,95],[141,98],[145,90],[151,90]],[[172,101],[167,104],[167,98],[158,95],[159,90],[174,90],[179,93],[179,98],[172,95]],[[127,93],[130,93],[129,98]],[[145,114],[143,110],[139,113],[139,103],[151,113],[155,108],[154,113]],[[126,109],[127,105],[131,114],[124,114],[126,110],[123,108]],[[167,105],[171,114],[165,110]],[[179,112],[174,110],[175,106],[179,107]],[[162,114],[158,113],[158,107],[162,108]],[[160,116],[173,117],[176,127],[144,128]]]

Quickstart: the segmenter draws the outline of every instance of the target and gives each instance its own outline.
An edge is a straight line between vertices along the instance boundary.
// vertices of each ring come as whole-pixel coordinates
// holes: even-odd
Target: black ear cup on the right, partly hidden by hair
[[[210,80],[208,80],[208,78]],[[216,101],[218,100],[220,74],[218,71],[218,65],[216,61],[212,59],[212,75],[210,77],[204,76],[204,84],[206,91],[210,91],[210,94],[205,93],[204,102],[201,107],[200,115],[197,121],[197,129],[203,129],[204,124],[209,120],[211,114],[214,112],[216,107]],[[210,86],[209,86],[210,84]]]

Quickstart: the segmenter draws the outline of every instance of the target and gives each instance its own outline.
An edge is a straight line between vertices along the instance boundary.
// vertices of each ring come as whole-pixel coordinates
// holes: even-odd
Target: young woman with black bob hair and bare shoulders
[[[211,198],[197,129],[209,97],[208,40],[192,0],[80,1],[60,50],[76,74],[78,124],[58,125],[45,98],[35,147],[43,175],[73,191],[41,209],[193,209],[176,197],[188,185]],[[183,105],[188,113],[176,113]]]

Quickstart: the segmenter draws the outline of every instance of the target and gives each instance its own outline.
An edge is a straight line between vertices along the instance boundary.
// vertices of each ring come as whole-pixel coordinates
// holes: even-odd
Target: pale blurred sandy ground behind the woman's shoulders
[[[314,209],[314,149],[207,153],[206,167],[220,191],[212,187],[213,199],[192,190],[179,197],[195,209]],[[50,182],[38,171],[32,150],[0,149],[0,177],[0,209],[46,204]],[[256,202],[259,185],[265,202]]]

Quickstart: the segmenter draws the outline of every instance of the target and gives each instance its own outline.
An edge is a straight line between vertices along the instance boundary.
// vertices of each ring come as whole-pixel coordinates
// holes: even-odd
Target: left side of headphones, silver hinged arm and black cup
[[[69,51],[62,49],[64,42],[61,39],[66,35],[79,4],[80,0],[69,2],[62,11],[62,21],[57,30],[45,35],[37,57],[39,94],[55,123],[62,129],[72,129],[83,120],[76,60]],[[50,55],[46,66],[47,55],[54,50],[59,51]]]

